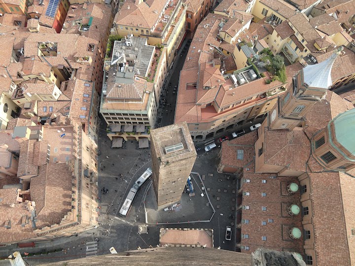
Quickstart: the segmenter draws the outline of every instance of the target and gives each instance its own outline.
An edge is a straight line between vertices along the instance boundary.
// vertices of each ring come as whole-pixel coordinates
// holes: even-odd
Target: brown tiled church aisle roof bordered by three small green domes
[[[249,166],[248,166],[249,167]],[[254,252],[259,247],[272,247],[279,251],[293,251],[303,253],[303,239],[291,240],[287,230],[292,227],[302,228],[301,215],[290,216],[287,207],[291,204],[300,204],[298,193],[289,195],[286,186],[290,182],[298,183],[296,177],[278,176],[270,178],[274,174],[256,174],[254,169],[244,168],[243,179],[250,182],[243,183],[243,192],[249,192],[249,196],[243,195],[242,206],[249,206],[249,209],[241,210],[241,218],[249,220],[249,224],[241,223],[241,234],[249,234],[249,238],[241,237],[241,245],[249,246],[249,250],[242,250],[245,253]],[[262,183],[266,180],[266,183]],[[262,197],[261,193],[266,193]],[[266,207],[266,211],[262,210]],[[238,215],[238,214],[237,214]],[[273,222],[270,223],[269,219]],[[262,221],[266,225],[262,225]],[[267,240],[263,241],[262,236]]]

